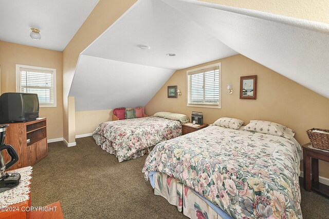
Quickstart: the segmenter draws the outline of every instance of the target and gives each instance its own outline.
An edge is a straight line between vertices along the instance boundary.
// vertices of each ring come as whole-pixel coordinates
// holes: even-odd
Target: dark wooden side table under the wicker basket
[[[303,145],[304,189],[312,189],[329,196],[329,186],[319,183],[319,160],[329,162],[329,153]],[[312,178],[311,178],[312,173]]]

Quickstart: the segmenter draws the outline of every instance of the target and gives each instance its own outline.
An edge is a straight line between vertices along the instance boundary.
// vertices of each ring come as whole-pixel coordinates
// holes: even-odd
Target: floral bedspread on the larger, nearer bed
[[[233,218],[302,218],[301,153],[296,140],[209,126],[155,146],[142,172],[177,178]]]

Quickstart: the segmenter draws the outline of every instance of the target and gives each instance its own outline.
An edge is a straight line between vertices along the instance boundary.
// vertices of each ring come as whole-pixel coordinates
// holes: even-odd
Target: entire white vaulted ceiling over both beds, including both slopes
[[[327,51],[326,24],[199,1],[139,0],[82,52],[69,95],[77,111],[143,106],[174,70],[241,53],[329,98]],[[147,95],[136,90],[150,85]],[[132,93],[140,101],[133,104]]]

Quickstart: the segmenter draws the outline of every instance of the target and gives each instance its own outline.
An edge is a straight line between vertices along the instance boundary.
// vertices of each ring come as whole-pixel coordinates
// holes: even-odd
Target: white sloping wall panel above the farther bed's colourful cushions
[[[76,111],[89,111],[143,107],[174,70],[80,55],[76,72],[70,95]]]

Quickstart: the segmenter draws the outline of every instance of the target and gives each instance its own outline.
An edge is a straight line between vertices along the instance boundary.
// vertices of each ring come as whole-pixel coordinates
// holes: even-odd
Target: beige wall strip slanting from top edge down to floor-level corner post
[[[136,0],[100,0],[63,51],[63,123],[64,138],[68,143],[75,142],[75,134],[82,131],[76,124],[90,127],[90,124],[83,122],[85,120],[83,116],[79,117],[79,121],[76,120],[74,97],[68,98],[79,54],[135,2]],[[90,111],[89,116],[97,116],[97,114],[98,111]]]

